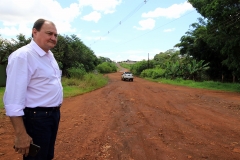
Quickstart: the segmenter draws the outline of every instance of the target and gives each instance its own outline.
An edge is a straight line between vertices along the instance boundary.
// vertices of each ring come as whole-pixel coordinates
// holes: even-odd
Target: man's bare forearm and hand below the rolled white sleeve
[[[27,134],[22,117],[10,117],[15,130],[14,148],[17,153],[28,156],[32,138]]]

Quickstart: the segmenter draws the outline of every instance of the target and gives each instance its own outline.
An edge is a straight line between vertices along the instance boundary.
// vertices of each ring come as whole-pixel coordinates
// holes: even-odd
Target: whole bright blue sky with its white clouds
[[[28,38],[33,23],[45,18],[97,56],[140,61],[173,49],[199,17],[186,0],[1,0],[0,35]]]

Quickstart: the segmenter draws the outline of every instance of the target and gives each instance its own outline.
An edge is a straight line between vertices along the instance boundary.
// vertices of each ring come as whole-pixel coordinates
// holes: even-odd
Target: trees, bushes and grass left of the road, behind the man
[[[6,67],[8,56],[16,49],[28,44],[31,38],[23,34],[16,39],[3,39],[0,36],[0,65]],[[62,84],[64,97],[80,95],[101,88],[108,83],[105,73],[117,71],[114,62],[106,57],[97,57],[76,36],[58,36],[58,43],[52,49],[54,56],[62,70]],[[6,73],[0,73],[0,78]],[[1,76],[4,75],[4,76]],[[3,108],[3,94],[5,85],[0,86],[0,109]]]

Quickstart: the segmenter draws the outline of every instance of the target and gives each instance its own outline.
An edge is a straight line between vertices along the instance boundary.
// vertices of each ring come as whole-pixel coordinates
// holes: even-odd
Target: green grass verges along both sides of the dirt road
[[[211,89],[211,90],[221,90],[227,92],[240,92],[240,84],[239,83],[221,83],[221,82],[213,82],[213,81],[204,81],[204,82],[195,82],[192,80],[169,80],[169,79],[150,79],[147,80],[179,85],[179,86],[188,86],[192,88],[202,88],[202,89]],[[64,98],[72,97],[76,95],[81,95],[87,92],[91,92],[98,88],[105,86],[108,83],[108,78],[104,77],[101,74],[86,74],[82,80],[79,79],[67,79],[62,78],[63,85],[63,94]],[[3,108],[3,93],[5,88],[0,87],[0,108]]]

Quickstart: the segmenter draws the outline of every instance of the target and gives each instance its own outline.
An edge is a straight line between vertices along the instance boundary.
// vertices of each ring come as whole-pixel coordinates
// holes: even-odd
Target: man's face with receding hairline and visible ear
[[[48,52],[57,44],[57,29],[51,22],[45,21],[40,31],[33,28],[34,41],[45,52]]]

